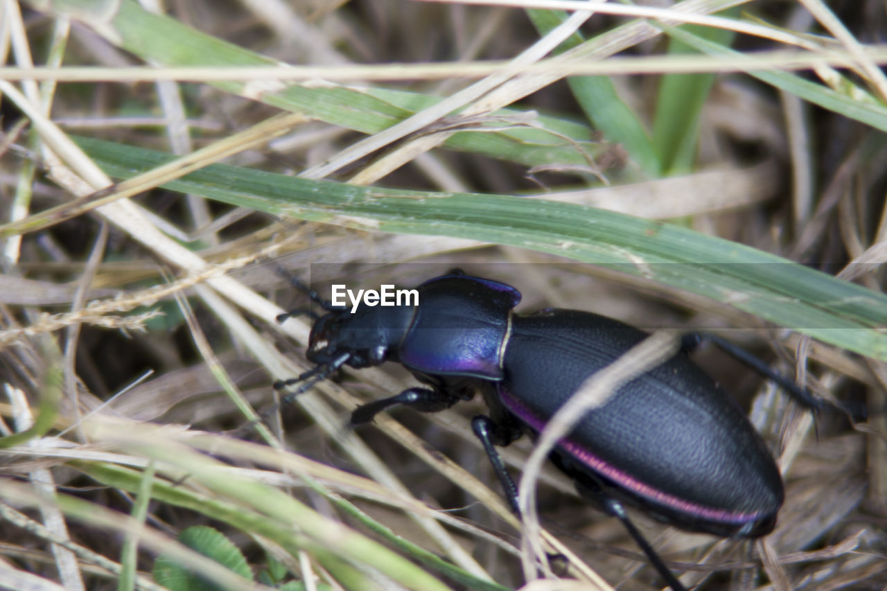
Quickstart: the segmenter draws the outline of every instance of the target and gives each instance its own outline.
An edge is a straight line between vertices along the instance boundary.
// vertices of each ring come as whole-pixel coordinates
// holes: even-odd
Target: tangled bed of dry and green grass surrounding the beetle
[[[279,266],[302,277],[310,268],[318,285],[412,286],[456,265],[519,288],[522,311],[559,306],[649,329],[731,329],[783,372],[797,359],[799,379],[821,396],[867,406],[871,418],[855,426],[828,413],[814,424],[756,375],[700,351],[701,364],[750,400],[752,421],[780,456],[779,526],[753,545],[632,515],[687,587],[887,584],[887,352],[860,344],[865,321],[887,324],[885,300],[872,295],[880,307],[858,333],[836,330],[843,341],[821,343],[774,329],[734,287],[706,297],[698,269],[651,280],[660,273],[638,258],[632,236],[622,250],[590,242],[601,258],[624,255],[624,266],[593,266],[593,248],[579,253],[556,227],[519,227],[524,218],[508,217],[517,209],[477,214],[495,235],[476,232],[474,218],[442,221],[458,217],[446,209],[452,195],[486,203],[485,193],[532,194],[670,220],[698,231],[687,236],[701,251],[715,235],[881,292],[887,79],[873,43],[883,3],[829,3],[832,13],[819,0],[690,0],[681,8],[692,11],[664,13],[699,25],[710,43],[737,32],[731,46],[741,53],[707,54],[669,53],[662,28],[629,18],[662,12],[616,3],[560,28],[536,13],[553,28],[541,41],[522,7],[548,2],[168,4],[164,23],[125,1],[0,3],[0,57],[11,66],[0,70],[9,222],[0,226],[9,436],[0,440],[0,587],[153,588],[147,571],[169,548],[220,584],[260,587],[174,547],[191,525],[224,532],[255,573],[274,570],[271,556],[282,563],[286,574],[262,579],[268,586],[522,586],[516,522],[468,424],[478,403],[344,429],[359,401],[412,384],[384,366],[320,384],[253,422],[274,406],[271,380],[305,366],[307,324],[274,320],[304,303]],[[738,9],[709,15],[727,4]],[[678,24],[664,27],[680,35]],[[548,59],[562,41],[579,43],[577,28],[592,42]],[[718,75],[689,75],[700,72]],[[72,136],[117,146],[99,154],[83,144],[84,153]],[[136,154],[127,146],[183,157],[135,170],[124,163]],[[103,171],[115,151],[117,168]],[[274,193],[288,185],[271,185],[282,181],[253,194],[213,172],[221,169],[178,191],[158,188],[222,159],[401,193],[355,189],[353,201],[377,199],[375,210],[329,206],[323,195],[311,205],[298,200],[329,185],[298,185],[306,194],[288,200]],[[106,175],[132,178],[108,188]],[[554,251],[566,256],[546,254]],[[779,285],[761,289],[808,303]],[[530,451],[520,441],[503,455],[516,473]],[[540,483],[538,535],[569,563],[549,573],[560,578],[551,588],[573,578],[606,588],[592,582],[595,571],[619,588],[654,588],[655,571],[619,524],[553,467]],[[138,545],[121,551],[122,539]]]

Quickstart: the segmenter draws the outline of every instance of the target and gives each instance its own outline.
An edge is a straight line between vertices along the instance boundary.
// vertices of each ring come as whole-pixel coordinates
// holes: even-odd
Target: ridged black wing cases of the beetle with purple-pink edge
[[[646,336],[583,311],[518,317],[506,349],[504,406],[538,431],[571,393]],[[719,535],[763,535],[783,498],[773,456],[733,398],[679,353],[624,384],[561,441],[559,463],[667,521]]]

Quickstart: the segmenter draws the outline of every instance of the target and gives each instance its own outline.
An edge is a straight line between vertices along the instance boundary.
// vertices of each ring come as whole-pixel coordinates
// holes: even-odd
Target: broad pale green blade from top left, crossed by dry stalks
[[[85,11],[81,3],[75,0],[51,0],[46,4],[56,12],[76,12],[83,22],[105,31],[106,36],[122,49],[159,66],[279,65],[275,59],[201,33],[178,20],[145,11],[130,0],[121,2],[111,16],[100,10],[95,13]],[[217,82],[211,85],[367,134],[385,130],[441,100],[415,92],[354,88],[334,83]],[[507,117],[520,113],[522,112],[518,110],[504,109],[492,115]],[[546,164],[583,166],[587,165],[589,155],[593,157],[603,149],[591,141],[592,133],[587,125],[569,120],[561,121],[559,117],[539,116],[533,128],[509,127],[500,131],[495,131],[492,127],[490,129],[454,134],[444,146],[518,162],[528,167]],[[561,136],[572,141],[566,141]],[[581,150],[577,146],[581,146]],[[588,154],[583,154],[583,151]]]

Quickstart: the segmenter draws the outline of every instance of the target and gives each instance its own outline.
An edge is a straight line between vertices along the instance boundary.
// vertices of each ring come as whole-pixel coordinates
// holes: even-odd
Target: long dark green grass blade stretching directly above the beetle
[[[173,158],[96,139],[78,141],[114,177],[131,177]],[[484,240],[603,264],[887,360],[887,296],[677,225],[571,203],[345,185],[222,164],[165,186],[280,216]]]

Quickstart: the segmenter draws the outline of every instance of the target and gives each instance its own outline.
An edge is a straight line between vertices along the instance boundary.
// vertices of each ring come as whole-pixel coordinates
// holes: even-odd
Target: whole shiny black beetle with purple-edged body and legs
[[[472,428],[515,511],[517,489],[495,446],[538,434],[591,374],[648,336],[587,311],[517,314],[517,289],[459,270],[422,283],[419,303],[409,306],[349,311],[305,289],[326,310],[310,332],[307,358],[315,366],[275,387],[301,383],[294,396],[341,366],[385,361],[400,363],[427,386],[357,407],[352,425],[371,422],[391,406],[441,411],[480,390],[490,413],[475,416]],[[684,587],[625,515],[623,503],[681,529],[757,538],[773,531],[784,497],[773,455],[742,407],[687,356],[698,341],[691,335],[671,359],[624,383],[550,454],[583,496],[623,522],[675,591]],[[716,337],[715,343],[805,406],[820,406],[762,361]]]

